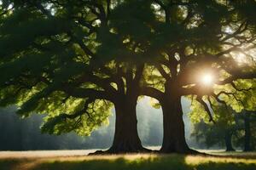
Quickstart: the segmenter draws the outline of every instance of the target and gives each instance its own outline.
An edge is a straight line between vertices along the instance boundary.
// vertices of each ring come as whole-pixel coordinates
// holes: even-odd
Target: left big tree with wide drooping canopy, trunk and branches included
[[[46,113],[43,132],[88,135],[108,121],[112,103],[116,129],[108,152],[146,151],[136,105],[144,58],[138,49],[148,34],[138,37],[137,29],[149,30],[142,20],[154,15],[150,3],[135,4],[3,1],[1,105],[18,105],[22,116]]]

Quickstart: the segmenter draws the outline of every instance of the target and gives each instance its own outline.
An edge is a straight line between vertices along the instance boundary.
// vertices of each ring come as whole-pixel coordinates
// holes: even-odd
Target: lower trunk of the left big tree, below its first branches
[[[113,145],[108,153],[147,151],[137,133],[137,99],[119,99],[115,105],[116,122]]]

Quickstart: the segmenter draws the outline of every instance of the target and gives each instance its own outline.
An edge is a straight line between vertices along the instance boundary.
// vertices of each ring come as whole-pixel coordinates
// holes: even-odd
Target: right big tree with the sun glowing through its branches
[[[160,151],[191,153],[184,139],[182,96],[197,100],[210,121],[207,101],[210,107],[219,103],[236,111],[254,109],[253,99],[247,105],[241,99],[247,94],[254,98],[256,3],[155,0],[154,7],[159,25],[152,44],[161,53],[148,63],[148,87],[142,94],[158,99],[163,110]],[[206,74],[208,82],[201,81]]]

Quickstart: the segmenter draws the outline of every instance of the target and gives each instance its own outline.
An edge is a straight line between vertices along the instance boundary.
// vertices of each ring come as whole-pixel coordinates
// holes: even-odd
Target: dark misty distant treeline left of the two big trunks
[[[107,148],[112,141],[113,129],[102,128],[90,137],[79,137],[75,133],[59,136],[42,134],[40,125],[44,116],[33,115],[21,119],[15,114],[15,109],[5,109],[0,112],[0,150],[64,150]],[[113,116],[111,117],[113,119]]]

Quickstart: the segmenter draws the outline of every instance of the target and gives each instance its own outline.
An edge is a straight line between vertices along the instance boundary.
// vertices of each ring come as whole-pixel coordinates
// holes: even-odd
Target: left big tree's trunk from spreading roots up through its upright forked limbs
[[[119,77],[118,94],[112,100],[116,116],[113,144],[109,150],[103,153],[121,154],[151,151],[143,148],[137,133],[136,106],[143,67],[144,65],[137,65],[135,77],[133,77],[133,69],[128,68],[125,74],[125,82],[122,76]]]

